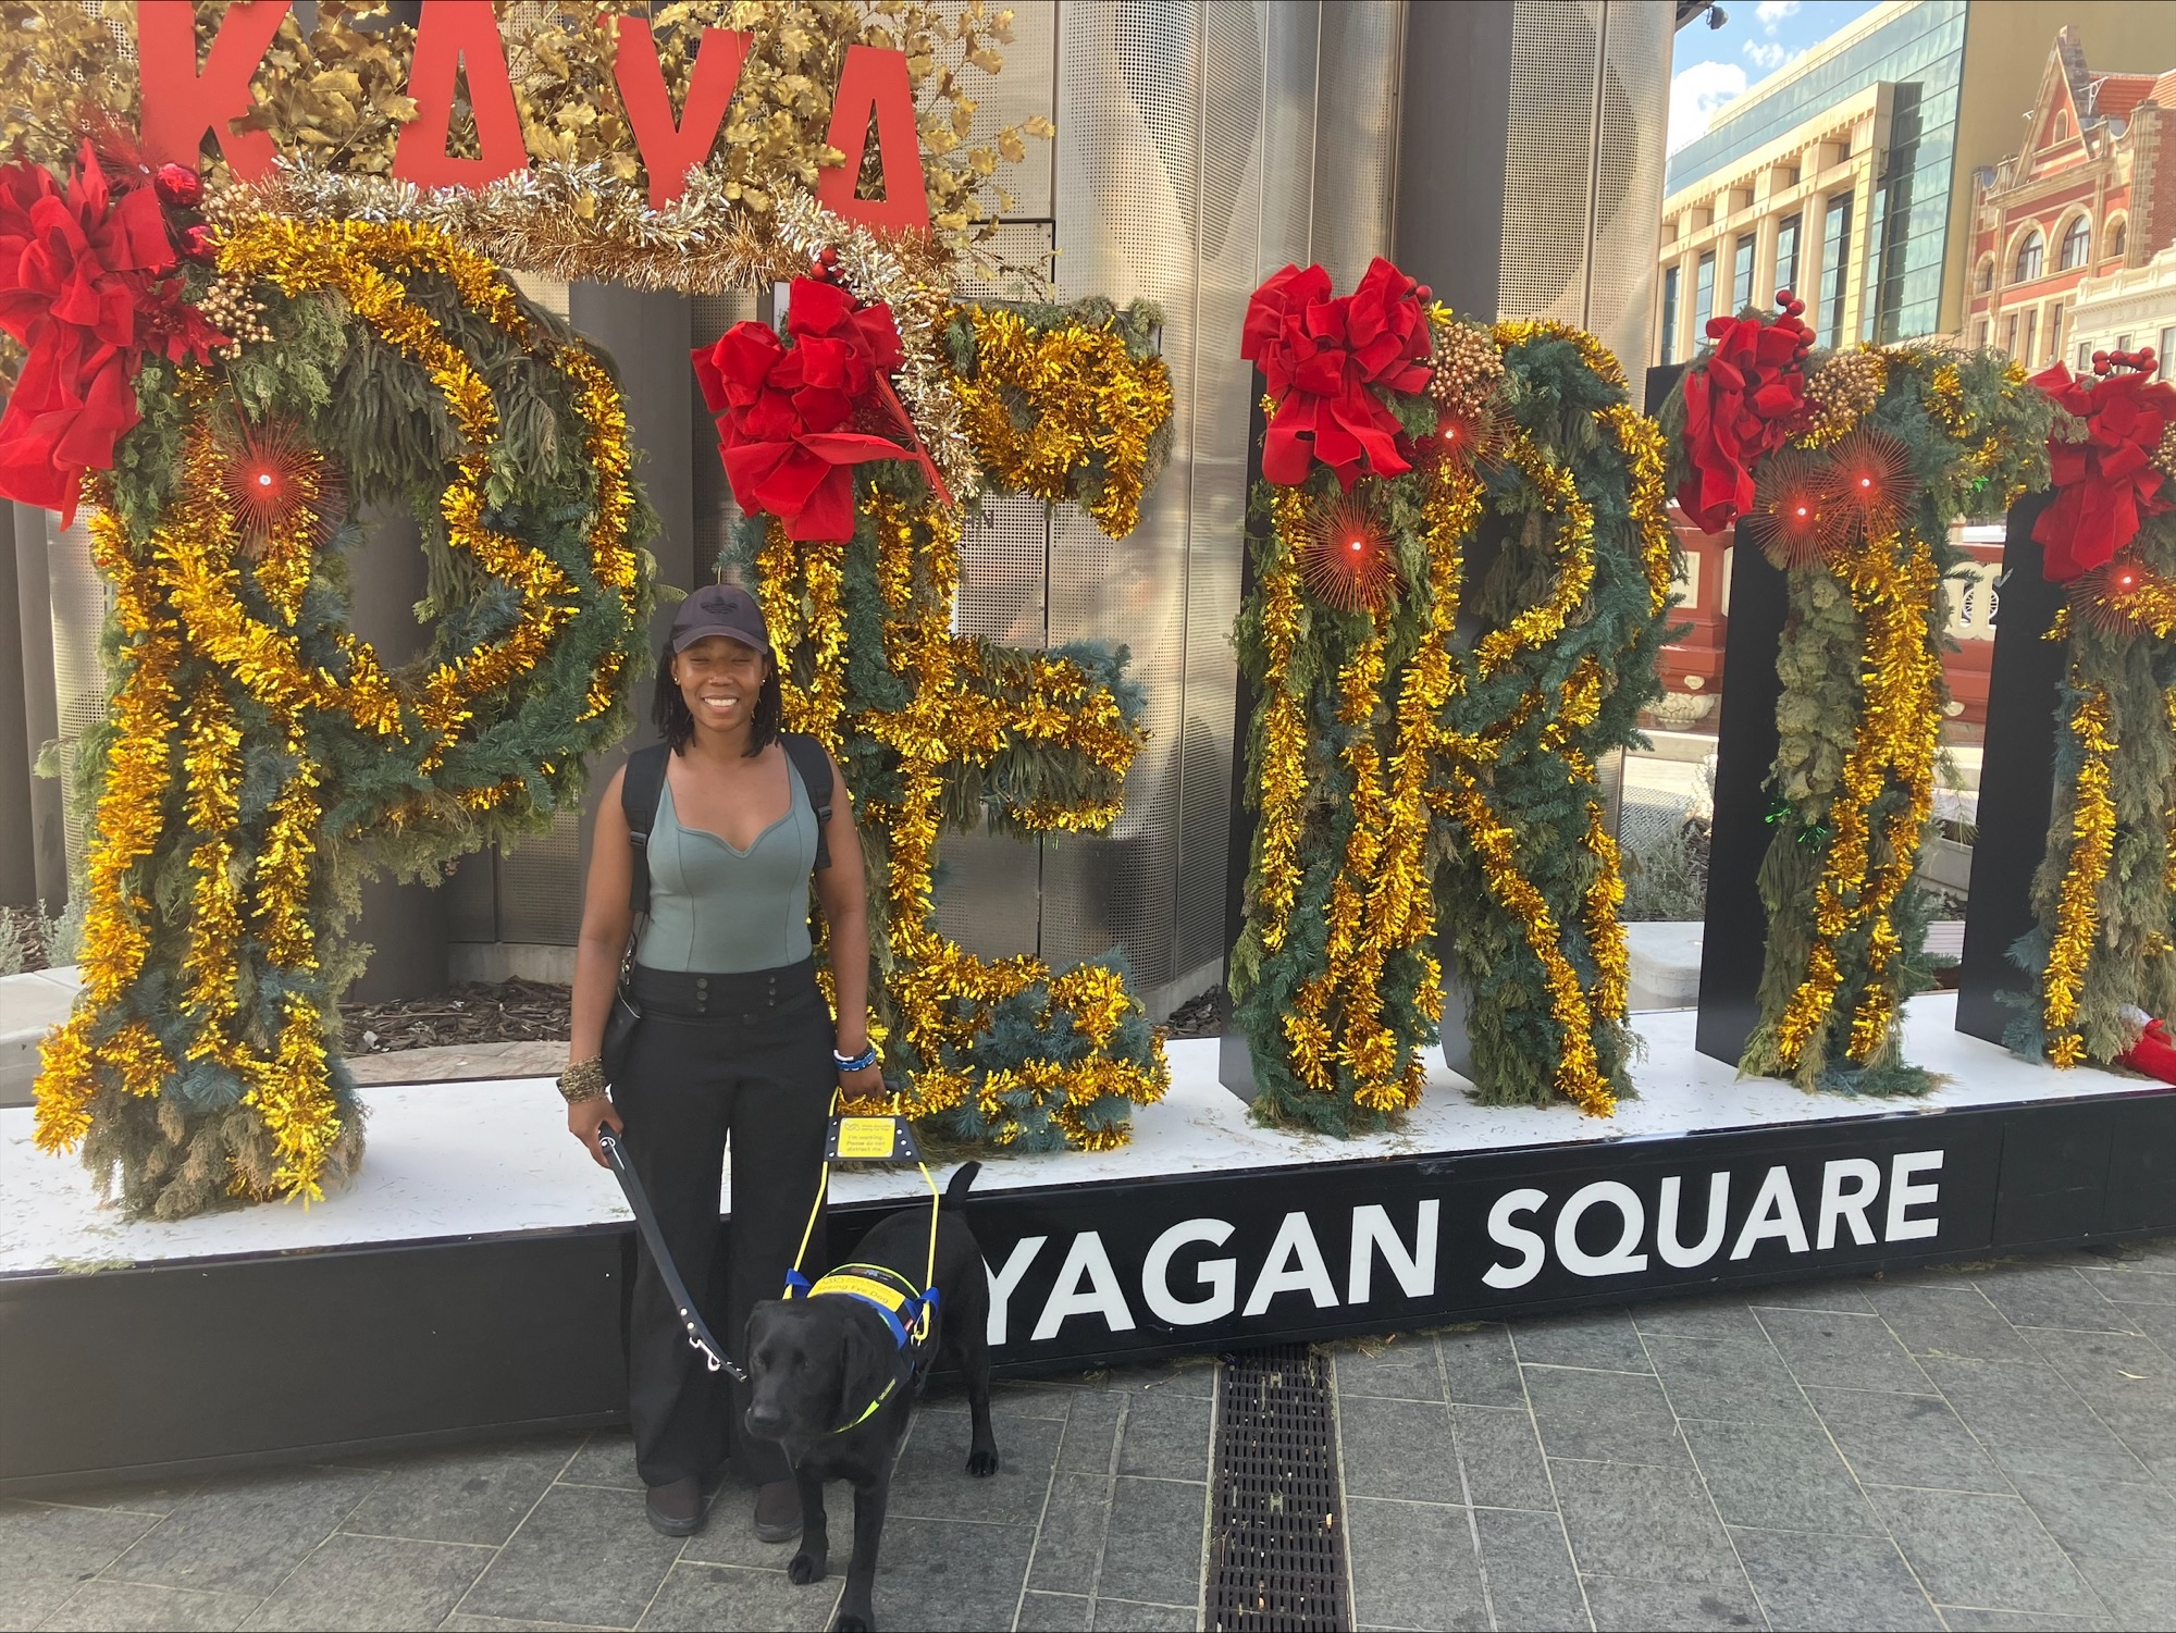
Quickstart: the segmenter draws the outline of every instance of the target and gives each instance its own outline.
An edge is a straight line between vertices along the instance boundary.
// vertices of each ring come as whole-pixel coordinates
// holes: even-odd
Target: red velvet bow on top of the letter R
[[[1380,255],[1340,298],[1330,296],[1319,266],[1271,277],[1247,303],[1238,351],[1262,370],[1275,401],[1262,475],[1293,488],[1321,459],[1351,492],[1362,470],[1412,470],[1399,446],[1404,427],[1382,394],[1427,390],[1430,351],[1427,287]]]

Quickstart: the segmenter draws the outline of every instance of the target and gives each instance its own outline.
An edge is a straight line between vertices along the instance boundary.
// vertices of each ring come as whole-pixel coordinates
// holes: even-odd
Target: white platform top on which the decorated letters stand
[[[1256,1128],[1247,1106],[1216,1082],[1216,1041],[1171,1043],[1171,1095],[1136,1110],[1134,1143],[1116,1152],[997,1158],[977,1189],[1095,1184],[1179,1174],[1229,1174],[1367,1156],[1478,1152],[1573,1141],[1667,1139],[1699,1130],[1763,1128],[1884,1117],[1956,1106],[2150,1093],[2161,1084],[2080,1067],[2054,1071],[1954,1030],[1954,995],[1911,1004],[1906,1058],[1945,1078],[1924,1100],[1806,1095],[1769,1078],[1736,1078],[1693,1052],[1693,1012],[1634,1017],[1647,1058],[1632,1078],[1639,1100],[1610,1119],[1569,1106],[1491,1108],[1469,1084],[1432,1069],[1427,1097],[1406,1128],[1338,1141]],[[242,1208],[181,1224],[131,1224],[98,1206],[83,1167],[41,1156],[30,1110],[0,1108],[0,1276],[87,1272],[128,1263],[276,1254],[392,1241],[572,1230],[627,1219],[611,1176],[566,1132],[559,1095],[544,1078],[396,1084],[363,1091],[370,1147],[363,1174],[326,1202]],[[846,1174],[842,1202],[914,1195],[912,1171]],[[731,1204],[731,1195],[722,1198]]]

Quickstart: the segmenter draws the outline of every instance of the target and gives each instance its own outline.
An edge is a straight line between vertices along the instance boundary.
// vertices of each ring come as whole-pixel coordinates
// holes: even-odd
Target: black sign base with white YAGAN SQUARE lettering
[[[833,1248],[899,1206],[833,1208]],[[2169,1232],[2176,1089],[986,1189],[966,1217],[999,1370],[1062,1372]],[[0,1491],[614,1422],[631,1263],[601,1224],[0,1278]]]

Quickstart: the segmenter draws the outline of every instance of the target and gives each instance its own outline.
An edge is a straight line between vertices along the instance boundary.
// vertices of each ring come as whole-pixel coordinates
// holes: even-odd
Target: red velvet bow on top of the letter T
[[[1813,331],[1784,300],[1771,320],[1708,318],[1715,351],[1684,375],[1684,457],[1678,505],[1704,533],[1721,533],[1754,507],[1754,466],[1776,453],[1806,414]]]

